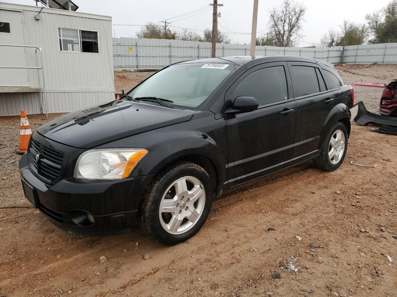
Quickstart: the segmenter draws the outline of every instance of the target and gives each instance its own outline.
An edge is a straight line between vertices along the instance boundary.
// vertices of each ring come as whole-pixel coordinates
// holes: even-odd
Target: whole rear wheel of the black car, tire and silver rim
[[[314,167],[333,171],[343,162],[347,151],[348,134],[346,126],[337,122],[328,133],[320,155],[313,159]]]

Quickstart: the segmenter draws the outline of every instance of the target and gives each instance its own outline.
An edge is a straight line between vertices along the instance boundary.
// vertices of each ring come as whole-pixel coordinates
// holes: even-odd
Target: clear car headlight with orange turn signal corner
[[[145,148],[104,148],[87,150],[76,163],[74,177],[82,179],[121,179],[128,177],[147,154]]]

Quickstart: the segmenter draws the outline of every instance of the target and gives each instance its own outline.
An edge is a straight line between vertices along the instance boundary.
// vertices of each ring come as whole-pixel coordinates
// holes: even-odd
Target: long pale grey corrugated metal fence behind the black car
[[[208,58],[210,42],[150,38],[113,38],[114,70],[160,69],[175,62]],[[258,56],[301,56],[330,63],[397,63],[397,43],[335,46],[332,48],[282,48],[256,46]],[[216,56],[246,56],[249,45],[216,44]]]

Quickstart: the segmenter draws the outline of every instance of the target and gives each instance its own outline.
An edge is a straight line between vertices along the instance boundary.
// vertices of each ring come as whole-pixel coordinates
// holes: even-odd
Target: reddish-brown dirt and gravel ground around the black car
[[[338,69],[349,84],[386,82],[397,70]],[[367,89],[355,88],[356,102],[376,107],[380,89]],[[33,128],[46,121],[29,120]],[[17,117],[0,118],[0,297],[397,296],[396,136],[353,124],[336,171],[307,163],[231,190],[196,236],[165,247],[138,231],[74,236],[29,207],[13,152],[18,126]],[[27,208],[2,208],[14,206]]]

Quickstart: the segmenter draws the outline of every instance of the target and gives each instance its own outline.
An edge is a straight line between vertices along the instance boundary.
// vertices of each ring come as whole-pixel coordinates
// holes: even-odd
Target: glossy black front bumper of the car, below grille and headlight
[[[43,183],[19,161],[25,196],[54,225],[82,236],[128,233],[137,223],[138,209],[153,175],[115,180],[67,178],[53,186]]]

